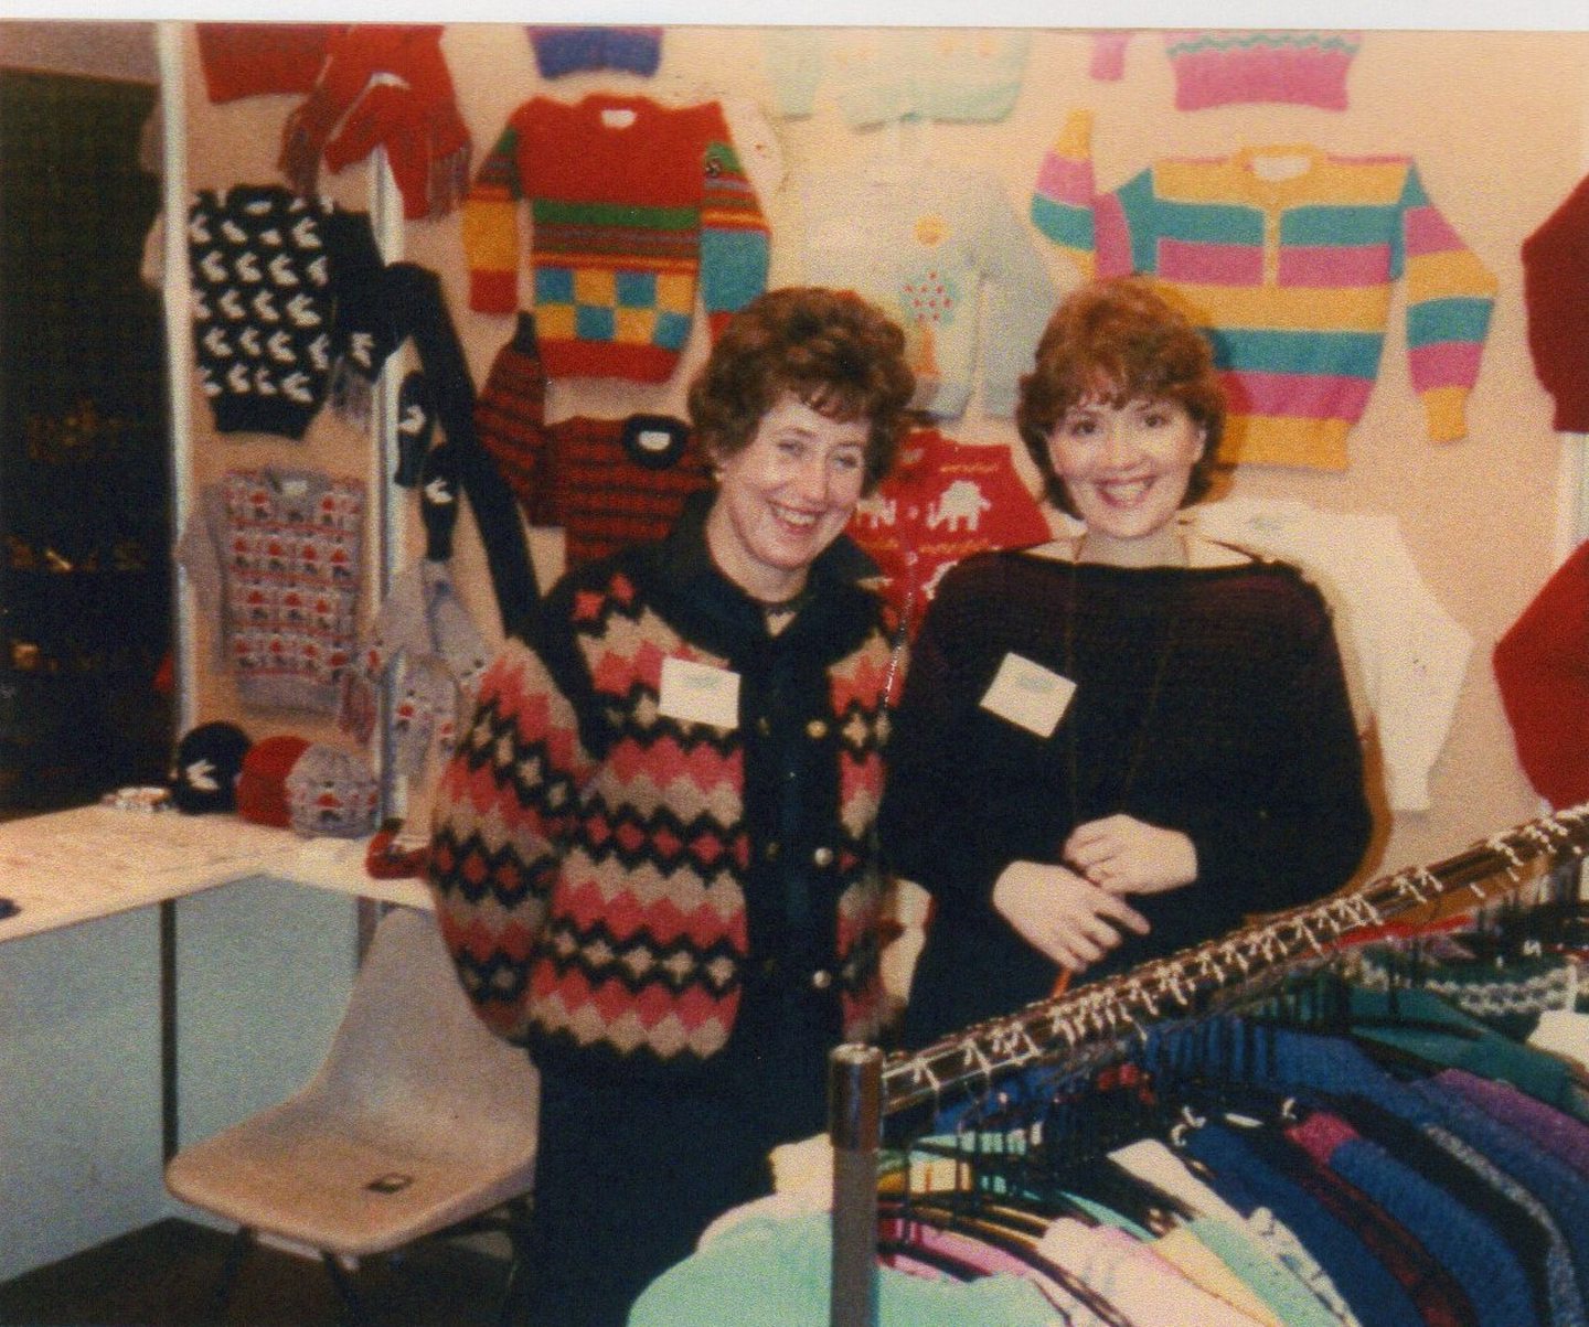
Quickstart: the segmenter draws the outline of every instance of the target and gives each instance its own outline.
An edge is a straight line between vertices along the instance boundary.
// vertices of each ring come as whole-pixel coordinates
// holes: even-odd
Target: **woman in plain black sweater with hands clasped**
[[[879,822],[934,899],[910,1046],[1328,893],[1371,828],[1319,591],[1182,510],[1225,420],[1201,334],[1084,286],[1015,418],[1081,526],[960,563],[912,650]]]

